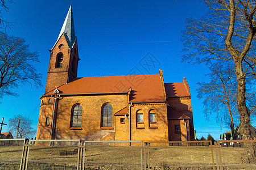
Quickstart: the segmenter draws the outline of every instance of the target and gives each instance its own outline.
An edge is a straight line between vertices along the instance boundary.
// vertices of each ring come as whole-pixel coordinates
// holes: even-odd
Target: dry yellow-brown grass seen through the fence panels
[[[77,146],[30,146],[29,161],[63,162],[76,164]],[[1,160],[20,160],[22,146],[0,147]],[[123,163],[139,164],[141,147],[139,146],[85,146],[87,163]],[[208,146],[150,146],[150,164],[212,164],[212,148]],[[243,148],[221,148],[222,162],[243,163]],[[214,162],[216,162],[213,148]],[[144,159],[144,151],[143,151]]]

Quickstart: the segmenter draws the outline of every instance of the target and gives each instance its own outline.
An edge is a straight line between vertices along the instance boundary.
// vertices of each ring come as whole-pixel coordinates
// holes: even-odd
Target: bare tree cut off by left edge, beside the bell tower
[[[3,95],[17,96],[12,90],[20,84],[42,86],[32,62],[39,62],[38,52],[30,52],[24,39],[0,33],[0,99]]]

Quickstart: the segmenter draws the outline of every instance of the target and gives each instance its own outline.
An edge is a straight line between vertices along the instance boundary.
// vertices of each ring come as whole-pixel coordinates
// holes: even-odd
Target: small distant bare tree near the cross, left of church
[[[18,124],[19,122],[19,124]],[[21,114],[15,115],[9,120],[9,131],[16,134],[18,130],[18,138],[31,138],[34,136],[35,130],[32,128],[32,120]]]

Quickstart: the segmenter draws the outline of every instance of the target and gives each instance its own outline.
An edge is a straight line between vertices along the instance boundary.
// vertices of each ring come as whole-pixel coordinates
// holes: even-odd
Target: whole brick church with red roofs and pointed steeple
[[[191,94],[185,78],[159,74],[77,78],[79,51],[72,6],[49,50],[36,139],[191,141]],[[134,83],[136,82],[136,83]]]

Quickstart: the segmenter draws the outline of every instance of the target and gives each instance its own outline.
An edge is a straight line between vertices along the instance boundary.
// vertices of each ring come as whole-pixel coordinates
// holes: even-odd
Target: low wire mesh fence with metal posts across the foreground
[[[0,169],[256,169],[255,151],[256,140],[0,139]]]

